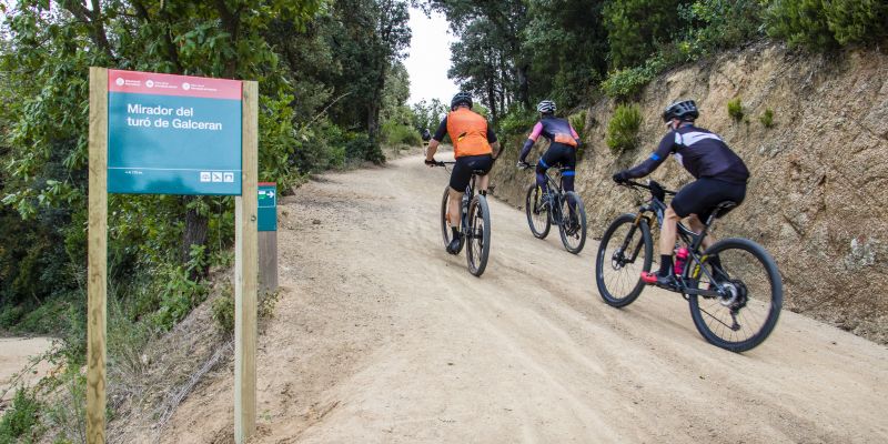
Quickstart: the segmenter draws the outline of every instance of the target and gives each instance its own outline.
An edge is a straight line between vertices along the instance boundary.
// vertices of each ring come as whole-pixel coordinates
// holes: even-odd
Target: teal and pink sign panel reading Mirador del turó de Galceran
[[[241,194],[241,82],[108,71],[108,192]]]

